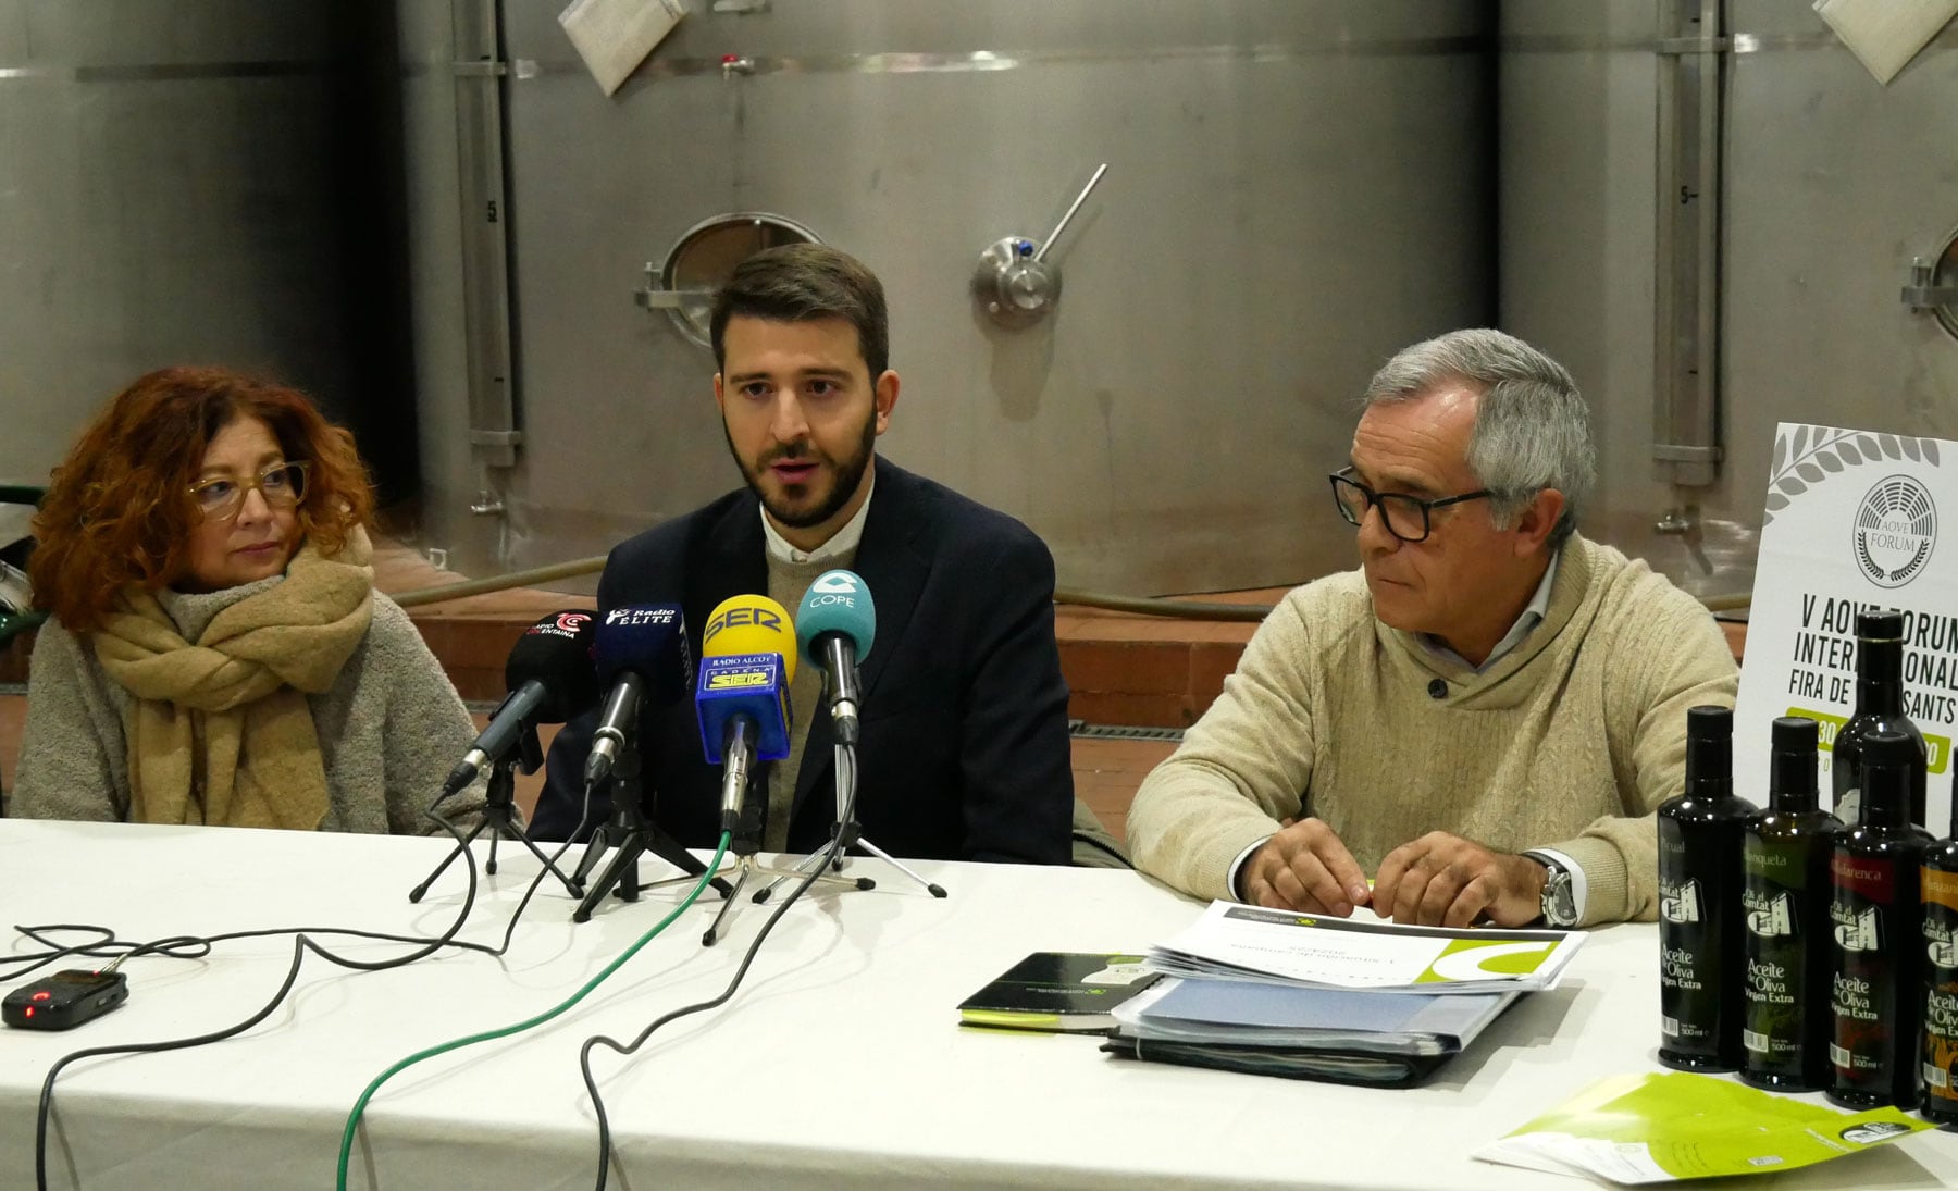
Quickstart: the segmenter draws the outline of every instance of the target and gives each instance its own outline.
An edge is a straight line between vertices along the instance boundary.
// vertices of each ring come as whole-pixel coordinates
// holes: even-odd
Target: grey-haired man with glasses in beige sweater
[[[1361,568],[1290,592],[1143,782],[1140,866],[1400,923],[1651,919],[1686,709],[1737,674],[1694,597],[1576,533],[1594,470],[1576,384],[1527,343],[1388,360],[1329,476]]]

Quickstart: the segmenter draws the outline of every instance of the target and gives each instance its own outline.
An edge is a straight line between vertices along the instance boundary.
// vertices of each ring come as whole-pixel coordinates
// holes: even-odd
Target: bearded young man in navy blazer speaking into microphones
[[[895,856],[1067,864],[1073,768],[1053,643],[1053,556],[1030,529],[877,458],[899,378],[883,286],[824,245],[742,262],[713,310],[715,404],[748,480],[611,552],[599,611],[679,603],[691,656],[730,596],[797,609],[826,570],[862,576],[877,633],[862,664],[858,823]],[[793,750],[766,766],[762,848],[815,852],[836,819],[828,703],[807,660]],[[582,817],[595,717],[550,748],[533,834]],[[719,838],[721,770],[693,701],[640,719],[648,811],[681,844]],[[764,782],[758,782],[764,784]],[[593,801],[599,801],[597,797]],[[589,823],[609,807],[593,807]]]

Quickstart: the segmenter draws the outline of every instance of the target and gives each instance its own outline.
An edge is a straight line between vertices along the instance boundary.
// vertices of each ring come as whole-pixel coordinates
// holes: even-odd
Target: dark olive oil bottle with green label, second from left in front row
[[[1768,809],[1741,842],[1747,1011],[1741,1079],[1780,1091],[1829,1083],[1829,858],[1842,821],[1815,805],[1817,723],[1774,721]]]

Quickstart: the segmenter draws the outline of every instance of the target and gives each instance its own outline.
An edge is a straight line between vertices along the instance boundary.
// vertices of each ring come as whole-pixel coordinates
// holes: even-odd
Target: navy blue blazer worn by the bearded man
[[[1075,780],[1053,556],[1012,517],[887,458],[875,466],[852,566],[877,607],[862,662],[863,836],[893,856],[1067,864]],[[699,658],[709,613],[748,594],[768,594],[768,554],[760,501],[744,488],[617,547],[599,578],[599,613],[677,601]],[[595,711],[578,717],[552,742],[536,838],[576,829],[595,721]],[[654,821],[681,844],[711,848],[721,768],[705,760],[693,699],[644,711],[638,738]],[[830,836],[832,746],[822,699],[795,778],[791,852],[815,852]],[[758,780],[752,797],[766,789]],[[591,823],[605,815],[609,805],[593,807]]]

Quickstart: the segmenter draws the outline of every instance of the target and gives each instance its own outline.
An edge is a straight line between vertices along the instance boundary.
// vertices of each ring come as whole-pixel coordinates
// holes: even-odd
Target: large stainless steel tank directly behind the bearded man
[[[1494,315],[1472,0],[703,0],[611,98],[558,8],[403,4],[423,541],[462,570],[738,484],[711,355],[634,302],[717,217],[875,268],[905,382],[879,451],[1134,594],[1349,566],[1349,400]],[[1044,241],[1098,163],[1059,298],[1001,325],[981,253]]]

